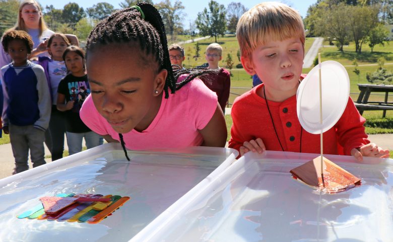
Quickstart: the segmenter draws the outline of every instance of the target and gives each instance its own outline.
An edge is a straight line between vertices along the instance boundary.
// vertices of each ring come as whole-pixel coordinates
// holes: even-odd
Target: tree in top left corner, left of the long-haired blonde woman
[[[18,0],[0,0],[0,36],[15,25],[19,4]]]

